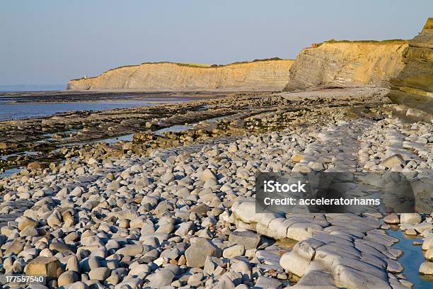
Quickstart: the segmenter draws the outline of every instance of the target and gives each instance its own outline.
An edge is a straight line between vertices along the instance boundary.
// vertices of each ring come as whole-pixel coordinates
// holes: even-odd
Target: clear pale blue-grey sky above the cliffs
[[[311,42],[410,39],[432,0],[10,0],[0,4],[0,84],[66,84],[142,62],[293,59]]]

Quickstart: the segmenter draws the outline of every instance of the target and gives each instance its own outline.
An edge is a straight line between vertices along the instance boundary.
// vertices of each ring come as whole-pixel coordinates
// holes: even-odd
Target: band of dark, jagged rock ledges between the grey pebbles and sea
[[[359,88],[354,88],[352,90],[358,91]],[[374,91],[376,90],[377,89],[374,89]],[[360,94],[362,96],[362,94],[369,94],[369,91],[371,91],[371,89],[361,89],[360,91]],[[379,89],[379,91],[381,90]],[[325,91],[324,94],[333,94],[333,91]],[[188,96],[189,95],[187,95],[186,97]],[[147,128],[149,132],[151,132],[173,125],[198,123],[202,120],[217,118],[224,115],[236,115],[236,113],[238,114],[237,118],[240,118],[242,120],[243,118],[252,116],[256,113],[261,113],[263,110],[277,110],[277,107],[272,108],[272,101],[281,104],[285,103],[285,106],[287,106],[287,108],[285,108],[286,110],[296,110],[296,103],[301,104],[303,99],[305,99],[299,98],[299,100],[297,101],[293,99],[291,101],[285,101],[284,96],[282,98],[278,94],[269,95],[267,93],[263,94],[261,92],[248,94],[229,94],[224,96],[223,98],[214,98],[214,95],[210,94],[207,95],[207,97],[204,97],[204,99],[202,98],[203,97],[200,96],[200,99],[195,101],[185,101],[181,103],[162,103],[155,106],[115,108],[105,111],[74,111],[57,113],[56,115],[50,115],[42,118],[2,121],[0,122],[0,131],[4,132],[5,137],[4,140],[0,139],[0,145],[3,145],[3,147],[1,147],[3,149],[3,152],[1,154],[8,155],[15,152],[35,150],[42,150],[44,154],[47,154],[47,152],[50,152],[50,150],[59,149],[62,147],[62,145],[68,142],[88,142],[108,137],[120,137],[129,133],[142,132],[142,128],[144,127]],[[232,106],[232,104],[235,102],[237,103],[237,106]],[[294,105],[291,105],[291,102],[293,102]],[[345,103],[345,101],[343,100],[342,103]],[[236,107],[238,108],[236,109]],[[302,106],[300,108],[302,109]],[[159,111],[162,111],[162,113],[160,113]],[[185,111],[188,111],[188,113],[185,114]],[[116,120],[116,118],[118,118],[118,120]],[[133,123],[132,119],[134,119],[137,122],[137,125],[134,124],[132,126],[129,126],[129,128],[125,125],[122,125],[121,123],[125,122],[126,118],[128,118],[128,122],[131,124]],[[160,123],[161,121],[162,123]],[[119,128],[112,129],[111,127],[108,127],[109,130],[104,132],[98,128],[95,128],[95,126],[100,125],[101,122],[109,122],[111,124],[119,123],[117,125],[119,126]],[[15,126],[17,128],[19,127],[21,130],[24,128],[28,131],[28,134],[19,134],[19,130],[17,132],[14,132]],[[32,132],[32,130],[34,132]],[[75,132],[73,137],[71,137],[69,133],[69,131],[71,130],[74,130]],[[62,131],[68,131],[69,136],[64,135],[62,137]],[[17,133],[17,137],[19,137],[19,143],[10,142],[11,139],[13,141],[13,138],[16,138],[13,134]],[[47,133],[49,133],[50,135],[59,135],[60,133],[60,137],[58,139],[53,139],[52,137],[47,138]],[[6,137],[6,135],[8,136]],[[65,136],[67,137],[65,138]],[[47,142],[47,140],[50,141]],[[16,145],[18,145],[18,147],[16,147]],[[49,159],[52,159],[52,157],[50,157]],[[28,164],[33,160],[37,161],[37,159],[30,158],[24,164]],[[11,166],[8,165],[8,167],[10,168]]]

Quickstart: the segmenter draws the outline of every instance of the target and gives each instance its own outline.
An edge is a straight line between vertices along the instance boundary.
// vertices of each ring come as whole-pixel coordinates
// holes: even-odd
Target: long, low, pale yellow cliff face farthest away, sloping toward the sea
[[[293,60],[260,60],[224,66],[200,66],[171,62],[120,67],[98,77],[68,82],[67,89],[276,90],[289,79]]]

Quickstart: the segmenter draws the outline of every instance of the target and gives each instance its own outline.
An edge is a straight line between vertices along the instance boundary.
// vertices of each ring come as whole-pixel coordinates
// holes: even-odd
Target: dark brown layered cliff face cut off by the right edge
[[[391,79],[388,97],[433,118],[433,18],[409,41],[403,56],[405,67],[398,77]]]

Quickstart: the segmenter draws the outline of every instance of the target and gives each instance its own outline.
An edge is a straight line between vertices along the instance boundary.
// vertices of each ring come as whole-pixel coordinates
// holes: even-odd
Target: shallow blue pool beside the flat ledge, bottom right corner
[[[422,276],[418,273],[418,269],[425,259],[422,252],[422,246],[416,246],[412,244],[412,242],[422,242],[422,240],[416,237],[410,237],[399,229],[388,229],[386,232],[400,240],[400,242],[394,244],[393,247],[403,251],[403,255],[400,256],[397,261],[403,265],[404,269],[402,273],[409,282],[413,283],[413,288],[433,288],[433,279],[427,276]]]

